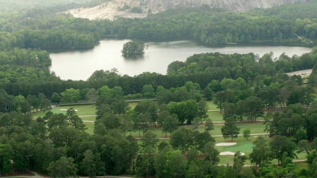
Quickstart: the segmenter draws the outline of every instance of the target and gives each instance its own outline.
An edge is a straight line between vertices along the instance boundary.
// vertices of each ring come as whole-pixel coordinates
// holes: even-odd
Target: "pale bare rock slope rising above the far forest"
[[[149,11],[158,13],[168,8],[197,7],[204,4],[230,11],[244,12],[255,8],[296,3],[307,3],[307,0],[110,0],[95,7],[72,9],[67,12],[75,17],[113,20],[117,17],[144,18]],[[129,8],[122,10],[124,5],[128,5]],[[130,13],[132,7],[141,7],[144,13]]]

